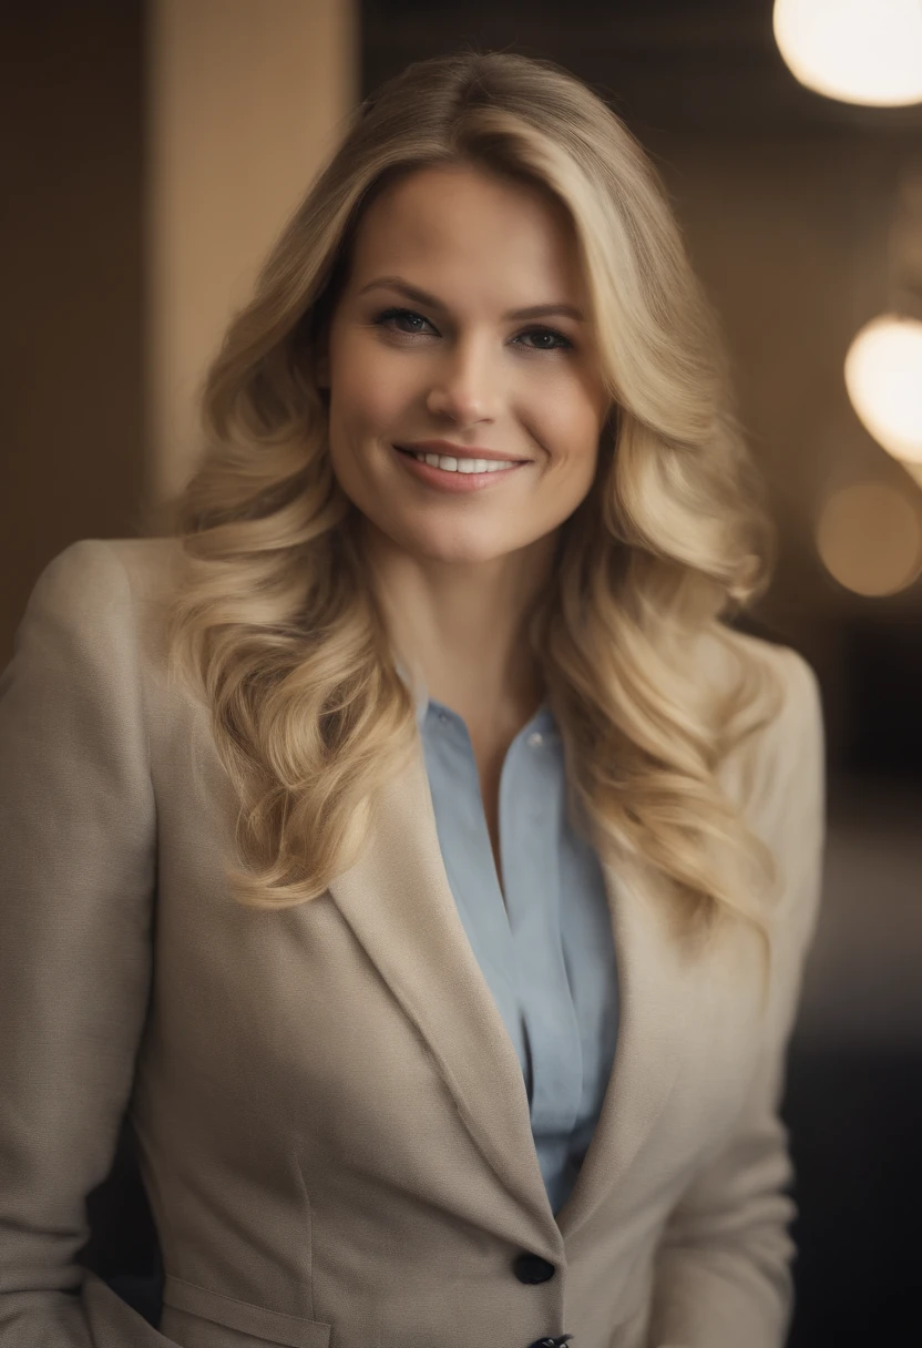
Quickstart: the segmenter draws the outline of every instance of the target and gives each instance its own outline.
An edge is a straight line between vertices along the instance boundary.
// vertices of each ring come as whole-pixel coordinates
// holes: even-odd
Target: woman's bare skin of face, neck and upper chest
[[[499,770],[542,696],[522,616],[592,487],[609,406],[576,240],[539,189],[439,166],[372,202],[349,263],[318,380],[333,472],[364,516],[398,651],[468,725],[495,837]],[[386,276],[441,307],[365,288]],[[585,318],[505,317],[550,303]],[[395,307],[419,317],[381,321]],[[485,491],[442,493],[392,448],[431,438],[530,462]]]

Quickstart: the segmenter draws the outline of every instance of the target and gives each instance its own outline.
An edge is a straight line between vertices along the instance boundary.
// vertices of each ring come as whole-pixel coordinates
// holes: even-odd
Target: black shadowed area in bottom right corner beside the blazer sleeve
[[[799,1216],[787,1348],[919,1341],[922,1049],[801,1049],[789,1062]]]

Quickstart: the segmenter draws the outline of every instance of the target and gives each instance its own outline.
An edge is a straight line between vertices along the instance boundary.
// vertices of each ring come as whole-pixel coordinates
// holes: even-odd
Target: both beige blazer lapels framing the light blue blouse
[[[557,1217],[538,1165],[522,1068],[470,948],[442,863],[422,747],[381,793],[379,829],[329,891],[429,1045],[485,1161],[550,1246],[572,1233],[627,1171],[669,1097],[682,972],[650,895],[605,865],[619,969],[613,1070],[574,1192]]]

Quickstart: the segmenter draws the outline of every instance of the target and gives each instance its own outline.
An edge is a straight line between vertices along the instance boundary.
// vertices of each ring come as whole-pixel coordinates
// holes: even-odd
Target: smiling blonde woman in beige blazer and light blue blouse
[[[584,85],[357,111],[4,675],[0,1348],[779,1348],[822,727],[728,399]],[[159,1328],[77,1258],[125,1115]]]

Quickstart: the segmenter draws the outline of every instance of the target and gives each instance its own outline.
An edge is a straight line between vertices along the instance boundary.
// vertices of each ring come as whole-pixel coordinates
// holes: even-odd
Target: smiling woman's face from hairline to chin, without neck
[[[569,220],[536,189],[438,167],[371,204],[319,383],[372,535],[443,562],[547,545],[589,492],[608,408],[588,317]],[[514,466],[484,472],[481,452]]]

